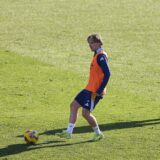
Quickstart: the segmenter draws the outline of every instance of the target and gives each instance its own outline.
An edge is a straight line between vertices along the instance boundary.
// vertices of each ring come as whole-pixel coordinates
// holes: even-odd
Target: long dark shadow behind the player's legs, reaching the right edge
[[[117,130],[117,129],[144,127],[144,126],[150,126],[150,125],[156,125],[156,124],[160,124],[159,118],[143,120],[143,121],[130,121],[130,122],[116,122],[116,123],[100,124],[99,126],[102,131],[110,131],[110,130]],[[65,129],[66,128],[49,130],[41,134],[53,135]],[[80,126],[80,127],[75,127],[74,129],[74,133],[87,133],[87,132],[93,132],[90,126]]]

